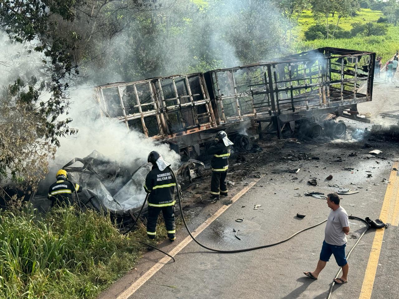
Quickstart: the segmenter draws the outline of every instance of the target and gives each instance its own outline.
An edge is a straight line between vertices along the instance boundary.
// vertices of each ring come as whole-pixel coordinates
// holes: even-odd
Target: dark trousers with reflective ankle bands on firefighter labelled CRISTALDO
[[[148,217],[147,217],[147,236],[150,239],[154,239],[156,236],[156,221],[158,215],[162,210],[164,216],[166,231],[170,240],[174,240],[176,236],[176,225],[174,221],[174,206],[168,207],[151,207],[148,206]]]

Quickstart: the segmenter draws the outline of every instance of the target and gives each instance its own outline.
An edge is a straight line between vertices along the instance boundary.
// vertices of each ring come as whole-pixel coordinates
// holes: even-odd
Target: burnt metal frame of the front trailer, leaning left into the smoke
[[[102,116],[148,138],[171,139],[216,126],[202,73],[102,85],[96,96]]]

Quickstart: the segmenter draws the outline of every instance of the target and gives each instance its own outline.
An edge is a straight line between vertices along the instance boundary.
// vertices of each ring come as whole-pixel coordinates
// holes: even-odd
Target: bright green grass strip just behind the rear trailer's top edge
[[[348,39],[316,39],[314,41],[298,41],[293,44],[293,53],[308,51],[321,47],[338,47],[375,52],[383,57],[383,62],[391,59],[399,49],[399,27],[390,26],[383,36],[352,37]]]

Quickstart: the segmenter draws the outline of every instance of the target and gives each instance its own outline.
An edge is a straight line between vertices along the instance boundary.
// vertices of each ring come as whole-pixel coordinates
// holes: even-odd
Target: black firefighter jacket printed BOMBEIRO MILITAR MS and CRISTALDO
[[[175,204],[174,189],[176,182],[173,179],[170,169],[159,170],[158,166],[152,166],[146,177],[144,190],[148,195],[148,206],[168,207]]]

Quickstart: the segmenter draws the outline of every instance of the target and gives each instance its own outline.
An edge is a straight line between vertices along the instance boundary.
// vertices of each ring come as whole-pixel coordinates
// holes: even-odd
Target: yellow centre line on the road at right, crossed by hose
[[[398,163],[393,163],[392,167],[398,167]],[[398,180],[397,171],[391,170],[389,175],[389,183],[387,185],[387,191],[385,191],[385,197],[381,208],[379,218],[383,222],[387,222],[387,219],[391,217],[391,199],[396,197],[395,183]],[[396,198],[395,198],[396,199]],[[384,229],[380,228],[375,231],[373,245],[371,246],[371,252],[367,268],[364,274],[363,285],[361,286],[359,299],[370,299],[371,292],[373,291],[375,273],[377,272],[379,254],[381,252],[382,239],[384,237]]]

